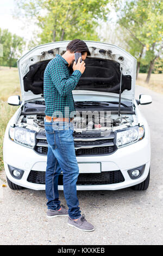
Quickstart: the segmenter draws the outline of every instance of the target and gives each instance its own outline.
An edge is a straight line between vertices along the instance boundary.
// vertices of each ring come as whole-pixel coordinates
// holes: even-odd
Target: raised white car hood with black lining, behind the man
[[[80,94],[87,91],[90,94],[92,91],[118,97],[122,68],[121,97],[134,101],[136,59],[116,45],[84,41],[91,56],[85,59],[86,69],[73,92]],[[46,65],[55,54],[65,53],[68,42],[70,40],[36,46],[18,59],[23,102],[43,99],[43,73]]]

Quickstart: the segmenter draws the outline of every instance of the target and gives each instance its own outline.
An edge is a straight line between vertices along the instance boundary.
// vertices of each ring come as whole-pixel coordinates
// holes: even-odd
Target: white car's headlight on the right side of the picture
[[[123,131],[116,132],[116,145],[118,148],[135,143],[143,138],[145,134],[144,126],[134,126]]]

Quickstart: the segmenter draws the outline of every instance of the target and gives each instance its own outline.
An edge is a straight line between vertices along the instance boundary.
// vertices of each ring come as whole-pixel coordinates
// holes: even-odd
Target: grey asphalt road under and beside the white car
[[[161,245],[163,243],[163,95],[150,94],[153,103],[140,106],[151,129],[151,181],[147,191],[78,191],[80,210],[95,231],[84,232],[67,225],[67,217],[46,217],[45,191],[12,191],[0,174],[1,245]],[[63,191],[61,204],[66,205]]]

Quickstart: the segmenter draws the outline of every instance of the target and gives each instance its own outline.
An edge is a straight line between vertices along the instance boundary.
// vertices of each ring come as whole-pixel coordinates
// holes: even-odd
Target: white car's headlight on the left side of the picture
[[[12,141],[26,145],[29,148],[35,146],[35,131],[21,127],[9,127],[9,136]]]

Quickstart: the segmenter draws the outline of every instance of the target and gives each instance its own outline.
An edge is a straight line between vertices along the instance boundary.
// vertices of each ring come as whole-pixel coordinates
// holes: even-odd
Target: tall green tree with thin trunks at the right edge
[[[117,8],[118,10],[118,8]],[[140,64],[149,64],[146,82],[149,82],[154,63],[162,52],[162,12],[163,3],[160,0],[126,1],[118,11],[118,23],[130,33],[130,49],[137,57],[137,75]],[[145,60],[143,60],[143,56]]]

